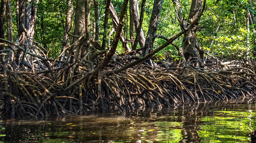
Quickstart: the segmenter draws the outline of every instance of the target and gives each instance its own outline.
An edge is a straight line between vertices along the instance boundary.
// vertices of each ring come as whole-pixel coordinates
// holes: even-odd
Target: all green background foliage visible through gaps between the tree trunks
[[[104,23],[104,11],[105,11],[105,1],[97,0],[99,4],[99,25],[100,25],[100,34],[99,34],[99,42],[102,41],[103,36],[103,23]],[[112,0],[111,1],[117,15],[119,15],[123,1],[122,0]],[[183,16],[185,20],[187,20],[189,9],[190,9],[190,1],[180,1],[181,7],[183,9]],[[73,0],[73,9],[75,9],[76,0]],[[139,9],[141,7],[141,0],[138,0]],[[154,0],[147,0],[144,12],[144,19],[142,24],[142,29],[144,32],[144,36],[147,36],[148,25],[151,18],[151,12],[153,8]],[[42,0],[38,3],[37,17],[35,22],[35,35],[34,41],[40,45],[39,47],[43,47],[45,49],[45,53],[48,53],[49,57],[56,58],[62,47],[62,38],[65,26],[65,13],[68,6],[66,1],[63,0]],[[250,33],[246,31],[245,25],[245,14],[249,9],[250,12],[255,13],[256,4],[251,3],[248,4],[247,0],[207,0],[206,1],[206,9],[204,11],[204,15],[200,20],[200,26],[205,26],[206,28],[201,29],[198,33],[198,40],[202,47],[206,51],[210,53],[215,53],[216,56],[221,58],[225,58],[227,60],[234,58],[242,58],[246,56],[246,36],[249,35],[250,38],[250,48],[251,53],[253,49],[255,49],[254,40],[256,38],[256,34],[253,33],[253,28],[256,28],[256,25],[250,25]],[[16,14],[15,14],[15,1],[12,1],[12,22],[13,22],[13,37],[17,38],[17,27],[16,27]],[[95,21],[94,14],[95,8],[93,1],[91,1],[91,27],[92,23]],[[75,10],[73,10],[72,14],[72,22],[74,22]],[[125,23],[123,26],[124,35],[129,39],[129,8],[127,8],[127,14],[125,18]],[[217,27],[220,25],[218,31],[216,31]],[[73,24],[72,24],[73,26]],[[72,27],[73,28],[73,27]],[[108,33],[113,28],[112,20],[109,17],[108,24]],[[160,13],[160,20],[158,24],[157,34],[163,35],[167,38],[172,37],[181,31],[177,15],[175,13],[175,7],[173,6],[172,1],[164,0],[162,3],[162,9]],[[72,29],[70,33],[72,32]],[[92,30],[91,30],[91,34]],[[110,37],[110,43],[112,43],[113,38],[115,36],[115,32]],[[135,33],[136,36],[136,33]],[[215,37],[215,38],[214,38]],[[211,45],[211,41],[213,40],[213,44]],[[162,45],[166,40],[156,38],[154,43],[154,48]],[[178,47],[181,46],[182,37],[174,41]],[[128,43],[130,45],[130,43]],[[108,45],[108,44],[107,44]],[[131,47],[131,45],[130,45]],[[138,48],[139,45],[138,45]],[[122,44],[118,44],[118,53],[122,53],[124,50],[122,48]],[[251,54],[250,53],[250,54]],[[175,57],[178,55],[177,49],[169,45],[160,51],[156,57],[162,56],[172,56],[174,59],[178,59],[179,57]]]

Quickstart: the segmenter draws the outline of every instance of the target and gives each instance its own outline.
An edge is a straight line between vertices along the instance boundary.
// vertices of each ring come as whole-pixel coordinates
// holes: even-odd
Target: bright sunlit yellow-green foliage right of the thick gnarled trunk
[[[247,56],[248,45],[246,38],[250,40],[250,57],[255,47],[254,25],[250,26],[250,33],[246,30],[246,8],[255,9],[246,0],[208,0],[200,25],[207,26],[198,33],[198,40],[204,50],[213,53],[221,59],[242,59]],[[219,26],[218,31],[217,27]],[[213,42],[213,43],[212,43]],[[212,45],[211,45],[212,43]]]

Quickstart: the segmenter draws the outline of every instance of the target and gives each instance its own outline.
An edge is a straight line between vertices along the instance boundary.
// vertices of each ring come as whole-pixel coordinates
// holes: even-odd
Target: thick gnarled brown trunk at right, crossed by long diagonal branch
[[[202,10],[202,2],[203,0],[192,0],[188,16],[188,24],[195,21],[196,18],[200,15]],[[181,47],[184,48],[184,57],[186,61],[191,56],[195,66],[203,67],[203,63],[200,61],[201,58],[198,54],[198,52],[202,53],[202,51],[197,50],[197,47],[199,46],[199,43],[197,42],[198,25],[199,22],[197,22],[187,32],[185,32]],[[182,65],[182,67],[184,67],[184,65]]]

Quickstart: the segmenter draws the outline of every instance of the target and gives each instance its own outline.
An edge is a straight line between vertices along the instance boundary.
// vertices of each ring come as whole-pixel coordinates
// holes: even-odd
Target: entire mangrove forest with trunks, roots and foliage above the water
[[[1,116],[253,98],[255,15],[255,0],[1,0]]]

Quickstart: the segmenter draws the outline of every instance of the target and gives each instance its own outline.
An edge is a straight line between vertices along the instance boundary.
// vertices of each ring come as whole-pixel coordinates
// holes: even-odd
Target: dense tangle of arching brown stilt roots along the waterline
[[[227,101],[256,95],[254,63],[233,61],[225,67],[212,63],[205,68],[197,68],[193,64],[180,68],[164,62],[166,68],[163,68],[156,63],[152,67],[142,62],[109,74],[128,63],[129,60],[113,60],[95,76],[86,69],[88,64],[78,62],[32,72],[10,70],[2,61],[2,116],[15,119],[84,115],[88,111],[104,112],[115,108],[122,111],[141,106],[161,108],[184,102]],[[229,68],[219,70],[226,67]]]

